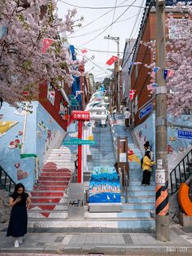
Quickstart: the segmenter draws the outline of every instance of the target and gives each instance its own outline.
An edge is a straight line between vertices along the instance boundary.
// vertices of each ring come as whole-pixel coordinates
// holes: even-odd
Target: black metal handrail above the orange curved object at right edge
[[[181,159],[177,166],[170,172],[171,194],[179,189],[181,183],[184,183],[192,174],[192,149]]]

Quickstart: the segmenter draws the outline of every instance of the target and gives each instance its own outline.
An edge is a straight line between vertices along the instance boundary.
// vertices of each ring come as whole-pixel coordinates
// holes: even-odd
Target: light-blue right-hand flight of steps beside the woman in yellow
[[[118,227],[154,229],[155,221],[151,219],[151,210],[155,210],[155,182],[151,177],[150,186],[141,186],[142,169],[139,160],[142,158],[142,152],[133,143],[130,131],[124,129],[122,116],[117,116],[117,122],[112,126],[112,134],[116,137],[120,136],[120,138],[128,137],[128,146],[138,160],[129,160],[128,203],[124,203],[123,212],[117,214],[118,217],[127,217],[128,221],[118,222]],[[122,201],[124,201],[124,198],[122,198]]]

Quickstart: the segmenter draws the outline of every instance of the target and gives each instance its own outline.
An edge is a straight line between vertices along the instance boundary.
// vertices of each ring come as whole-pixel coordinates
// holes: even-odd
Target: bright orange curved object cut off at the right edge
[[[186,215],[192,216],[192,202],[190,201],[189,197],[189,190],[190,188],[187,186],[186,183],[181,183],[178,192],[178,200],[181,209],[185,212]]]

